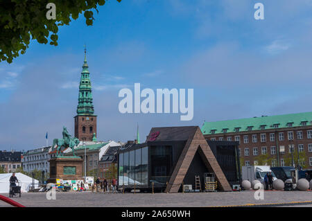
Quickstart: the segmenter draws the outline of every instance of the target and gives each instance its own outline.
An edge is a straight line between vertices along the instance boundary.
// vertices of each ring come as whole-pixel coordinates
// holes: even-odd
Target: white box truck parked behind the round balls
[[[242,166],[241,168],[242,180],[249,180],[250,182],[257,179],[263,184],[264,177],[267,173],[271,173],[273,181],[277,179],[273,171],[270,169],[270,166]]]

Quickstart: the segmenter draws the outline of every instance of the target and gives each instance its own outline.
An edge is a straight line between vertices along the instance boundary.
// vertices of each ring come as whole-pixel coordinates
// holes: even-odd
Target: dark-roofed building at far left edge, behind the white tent
[[[21,152],[0,150],[0,166],[6,173],[12,173],[21,167]]]

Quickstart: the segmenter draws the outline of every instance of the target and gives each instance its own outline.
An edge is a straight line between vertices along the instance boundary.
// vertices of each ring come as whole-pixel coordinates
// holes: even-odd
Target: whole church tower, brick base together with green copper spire
[[[92,87],[89,78],[89,67],[85,48],[85,61],[81,72],[77,115],[75,121],[75,136],[79,141],[92,141],[96,134],[96,115],[94,115]]]

